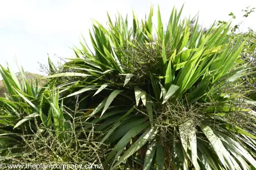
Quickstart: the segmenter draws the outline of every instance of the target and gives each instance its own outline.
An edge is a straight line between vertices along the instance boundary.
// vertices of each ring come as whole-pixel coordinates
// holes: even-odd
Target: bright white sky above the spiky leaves
[[[47,57],[58,62],[58,58],[74,56],[72,48],[80,47],[83,37],[89,40],[88,29],[92,19],[106,25],[108,12],[114,18],[118,12],[138,18],[145,18],[151,5],[154,5],[156,20],[157,5],[161,9],[163,23],[168,22],[173,6],[180,9],[184,4],[182,17],[199,13],[201,25],[209,26],[215,20],[228,21],[233,12],[240,23],[241,31],[248,27],[256,30],[256,12],[243,18],[241,9],[256,7],[255,0],[0,0],[0,64],[18,72],[18,65],[25,71],[42,74],[39,63],[47,64]],[[130,20],[132,21],[132,20]]]

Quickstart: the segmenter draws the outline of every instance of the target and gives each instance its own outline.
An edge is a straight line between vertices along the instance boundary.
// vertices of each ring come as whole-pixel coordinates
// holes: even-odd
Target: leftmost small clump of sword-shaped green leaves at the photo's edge
[[[19,156],[25,145],[20,135],[23,132],[30,135],[36,130],[35,125],[24,123],[22,128],[20,125],[39,116],[35,112],[35,105],[39,103],[37,98],[41,89],[38,87],[38,81],[35,84],[28,84],[23,70],[21,70],[22,85],[9,68],[4,69],[1,66],[0,73],[8,91],[6,98],[0,98],[0,159],[3,160],[6,155],[9,157]],[[21,119],[23,121],[19,122]]]

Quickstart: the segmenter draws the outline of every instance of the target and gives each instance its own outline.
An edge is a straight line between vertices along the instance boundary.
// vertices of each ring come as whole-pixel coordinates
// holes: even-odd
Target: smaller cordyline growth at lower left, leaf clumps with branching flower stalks
[[[89,164],[106,157],[106,145],[102,148],[106,151],[95,147],[99,142],[94,139],[94,128],[88,132],[82,122],[73,123],[79,115],[78,103],[73,103],[75,109],[71,110],[59,102],[54,80],[39,88],[37,79],[28,83],[23,69],[21,82],[9,68],[1,67],[0,73],[8,90],[6,98],[0,98],[2,162]]]

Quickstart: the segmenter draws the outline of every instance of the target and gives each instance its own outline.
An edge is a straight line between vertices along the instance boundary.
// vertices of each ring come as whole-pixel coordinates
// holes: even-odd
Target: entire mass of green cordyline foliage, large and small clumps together
[[[253,77],[245,55],[252,43],[233,38],[230,23],[205,31],[197,19],[192,27],[194,18],[181,20],[181,11],[173,9],[166,28],[160,10],[154,27],[152,8],[141,22],[133,14],[132,28],[120,15],[107,28],[94,21],[94,49],[81,43],[59,71],[49,60],[43,88],[25,76],[20,84],[1,67],[9,98],[0,98],[0,159],[104,169],[256,167],[256,103],[252,87],[240,84]]]

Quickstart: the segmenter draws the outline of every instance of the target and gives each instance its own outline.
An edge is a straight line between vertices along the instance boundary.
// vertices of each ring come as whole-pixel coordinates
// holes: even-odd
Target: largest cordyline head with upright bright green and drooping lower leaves
[[[60,96],[92,109],[82,120],[113,147],[106,169],[256,167],[255,112],[246,104],[254,102],[226,91],[246,71],[244,43],[229,41],[230,23],[203,31],[181,11],[166,28],[160,10],[154,28],[152,8],[145,21],[133,14],[132,28],[120,15],[107,28],[94,21],[94,50],[81,43],[76,59],[49,76],[74,76],[59,81]]]

